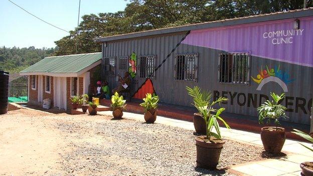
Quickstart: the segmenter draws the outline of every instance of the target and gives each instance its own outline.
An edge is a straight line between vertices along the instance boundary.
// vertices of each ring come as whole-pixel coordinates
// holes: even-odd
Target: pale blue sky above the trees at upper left
[[[79,0],[11,0],[31,14],[66,31],[77,27]],[[81,0],[80,17],[122,11],[125,0]],[[81,18],[80,18],[81,20]],[[54,41],[68,33],[54,28],[15,6],[8,0],[0,0],[0,46],[52,48]]]

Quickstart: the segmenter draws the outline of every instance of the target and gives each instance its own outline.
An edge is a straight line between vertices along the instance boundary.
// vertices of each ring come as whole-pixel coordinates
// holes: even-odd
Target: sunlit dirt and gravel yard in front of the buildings
[[[193,131],[181,128],[29,109],[0,115],[0,124],[0,175],[230,175],[195,168]],[[229,140],[218,167],[261,155]]]

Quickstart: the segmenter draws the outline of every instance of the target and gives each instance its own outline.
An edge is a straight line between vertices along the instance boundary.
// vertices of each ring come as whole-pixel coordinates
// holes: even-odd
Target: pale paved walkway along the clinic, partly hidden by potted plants
[[[100,115],[112,116],[112,111],[100,111]],[[144,121],[143,114],[135,114],[130,112],[123,112],[123,118]],[[185,128],[189,130],[195,130],[193,122],[177,120],[167,117],[158,116],[155,123]],[[226,129],[221,127],[222,136],[232,140],[245,142],[253,145],[262,145],[260,134],[241,131],[236,129]],[[312,146],[310,143],[299,142],[296,140],[286,139],[285,144],[282,148],[282,152],[286,156],[279,157],[276,159],[264,159],[261,161],[247,162],[240,165],[232,166],[229,171],[239,173],[241,175],[300,175],[301,168],[300,163],[304,161],[313,161],[313,152],[306,149],[299,143],[306,146]]]

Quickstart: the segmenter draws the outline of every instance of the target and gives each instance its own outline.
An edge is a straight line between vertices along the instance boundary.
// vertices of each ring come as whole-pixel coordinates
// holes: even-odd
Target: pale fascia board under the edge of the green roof
[[[20,72],[20,75],[46,75],[46,76],[53,76],[53,77],[79,77],[80,75],[84,74],[88,70],[94,68],[95,66],[101,64],[101,59],[93,64],[89,65],[88,67],[84,68],[83,70],[76,72],[76,73],[51,73],[51,72]]]

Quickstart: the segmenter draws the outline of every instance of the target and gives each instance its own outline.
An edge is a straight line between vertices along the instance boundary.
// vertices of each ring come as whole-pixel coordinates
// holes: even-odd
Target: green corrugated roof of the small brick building
[[[101,59],[101,53],[46,57],[20,73],[78,73]]]

